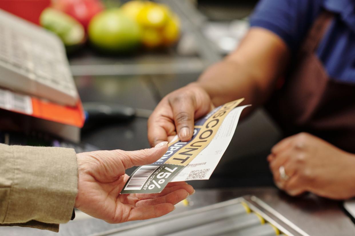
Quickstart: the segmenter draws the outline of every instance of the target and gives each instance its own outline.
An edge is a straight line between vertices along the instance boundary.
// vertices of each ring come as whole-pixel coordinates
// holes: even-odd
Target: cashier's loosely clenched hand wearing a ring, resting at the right
[[[333,199],[355,196],[355,155],[311,134],[281,140],[267,159],[275,184],[292,196],[307,191]]]

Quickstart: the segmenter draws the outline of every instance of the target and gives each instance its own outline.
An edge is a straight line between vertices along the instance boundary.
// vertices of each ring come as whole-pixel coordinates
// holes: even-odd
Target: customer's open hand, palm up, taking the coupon
[[[175,209],[194,190],[186,182],[170,183],[160,194],[120,194],[128,175],[125,169],[158,160],[167,142],[138,151],[93,151],[77,154],[78,195],[75,207],[108,223],[160,217]]]

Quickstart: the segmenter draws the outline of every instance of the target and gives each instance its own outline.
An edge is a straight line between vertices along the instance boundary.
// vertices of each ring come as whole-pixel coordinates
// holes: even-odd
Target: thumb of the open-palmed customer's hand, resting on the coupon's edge
[[[154,148],[148,148],[138,151],[126,151],[121,157],[125,169],[132,166],[148,165],[157,161],[168,151],[168,142],[164,141],[155,145]]]

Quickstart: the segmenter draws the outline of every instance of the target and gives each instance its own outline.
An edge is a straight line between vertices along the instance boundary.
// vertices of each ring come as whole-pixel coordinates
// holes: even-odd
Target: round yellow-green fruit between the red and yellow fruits
[[[91,43],[106,52],[127,52],[140,44],[141,29],[138,23],[118,8],[100,12],[88,28]]]

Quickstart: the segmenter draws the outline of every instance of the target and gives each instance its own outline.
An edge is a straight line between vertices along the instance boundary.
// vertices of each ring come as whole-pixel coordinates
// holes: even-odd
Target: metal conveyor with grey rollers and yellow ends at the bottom
[[[283,234],[284,233],[284,234]],[[158,218],[93,236],[307,236],[253,196]]]

